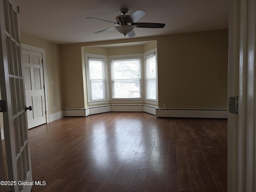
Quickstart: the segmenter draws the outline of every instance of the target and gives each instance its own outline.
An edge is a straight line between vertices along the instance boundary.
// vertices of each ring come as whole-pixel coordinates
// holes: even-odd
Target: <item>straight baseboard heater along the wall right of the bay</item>
[[[228,118],[227,109],[157,108],[157,117]]]

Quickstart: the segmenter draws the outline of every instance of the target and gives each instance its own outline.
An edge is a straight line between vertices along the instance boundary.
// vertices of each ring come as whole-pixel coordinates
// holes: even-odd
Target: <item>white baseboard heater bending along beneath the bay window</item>
[[[105,112],[147,112],[156,115],[156,108],[145,104],[110,104],[87,108],[64,108],[64,116],[88,116]]]

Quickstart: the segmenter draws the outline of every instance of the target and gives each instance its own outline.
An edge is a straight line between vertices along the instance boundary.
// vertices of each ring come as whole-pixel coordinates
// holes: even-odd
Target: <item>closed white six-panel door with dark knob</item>
[[[42,53],[22,49],[28,128],[46,123]]]

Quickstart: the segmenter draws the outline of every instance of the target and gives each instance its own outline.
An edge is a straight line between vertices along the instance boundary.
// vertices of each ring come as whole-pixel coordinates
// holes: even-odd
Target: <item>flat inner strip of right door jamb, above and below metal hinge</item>
[[[239,95],[240,0],[229,2],[228,98]],[[238,114],[228,113],[228,192],[238,190]]]

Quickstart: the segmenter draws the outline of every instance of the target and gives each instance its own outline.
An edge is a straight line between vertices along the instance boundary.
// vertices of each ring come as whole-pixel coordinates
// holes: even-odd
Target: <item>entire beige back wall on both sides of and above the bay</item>
[[[159,107],[163,104],[166,104],[166,108],[228,107],[227,29],[130,38],[129,42],[152,40],[157,40],[158,49]],[[65,76],[64,107],[79,108],[86,105],[82,70],[84,55],[81,56],[81,48],[124,42],[125,40],[115,40],[61,46]],[[143,49],[144,52],[149,48],[144,46]],[[107,54],[114,54],[114,51],[119,50],[120,48],[111,48]]]

